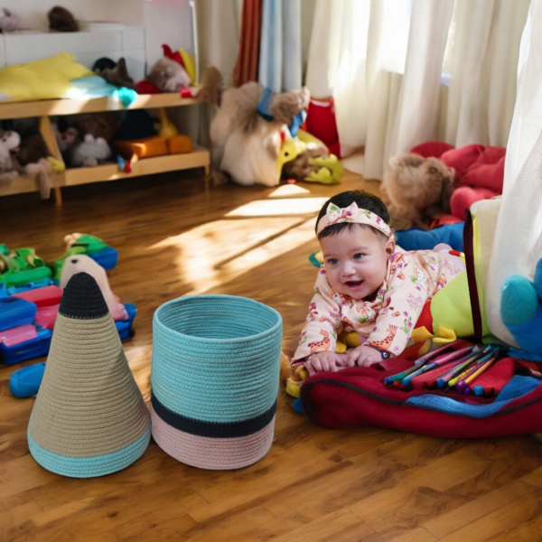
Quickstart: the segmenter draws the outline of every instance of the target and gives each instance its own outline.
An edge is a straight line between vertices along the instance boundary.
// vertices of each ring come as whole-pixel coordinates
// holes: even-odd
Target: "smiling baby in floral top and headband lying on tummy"
[[[424,304],[464,270],[452,255],[395,244],[386,206],[366,192],[341,192],[316,220],[323,265],[292,364],[309,374],[373,363],[406,348]],[[335,353],[341,332],[361,345]]]

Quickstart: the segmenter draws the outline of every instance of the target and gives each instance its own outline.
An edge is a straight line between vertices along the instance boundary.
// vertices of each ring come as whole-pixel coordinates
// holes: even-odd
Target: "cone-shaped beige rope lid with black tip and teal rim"
[[[134,463],[151,436],[150,416],[98,284],[70,278],[54,325],[28,444],[45,469],[89,478]]]

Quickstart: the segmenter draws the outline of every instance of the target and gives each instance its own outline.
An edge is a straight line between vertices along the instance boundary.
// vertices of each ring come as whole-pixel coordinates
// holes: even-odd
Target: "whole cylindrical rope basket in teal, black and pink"
[[[268,452],[275,429],[282,318],[245,297],[193,295],[153,320],[156,443],[203,469],[239,469]]]

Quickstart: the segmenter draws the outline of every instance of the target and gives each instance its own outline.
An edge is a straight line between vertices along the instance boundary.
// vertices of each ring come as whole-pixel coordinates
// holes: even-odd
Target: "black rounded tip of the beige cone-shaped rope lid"
[[[70,278],[62,294],[59,313],[70,318],[90,320],[107,314],[107,304],[98,283],[88,273]]]

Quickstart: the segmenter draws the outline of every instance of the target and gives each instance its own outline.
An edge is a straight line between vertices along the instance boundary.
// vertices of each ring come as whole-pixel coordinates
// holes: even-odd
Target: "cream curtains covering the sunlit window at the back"
[[[333,96],[343,153],[365,146],[360,173],[381,179],[390,156],[433,138],[506,145],[527,9],[528,0],[317,0],[306,84],[315,98]]]

